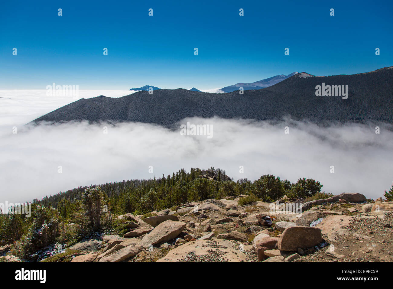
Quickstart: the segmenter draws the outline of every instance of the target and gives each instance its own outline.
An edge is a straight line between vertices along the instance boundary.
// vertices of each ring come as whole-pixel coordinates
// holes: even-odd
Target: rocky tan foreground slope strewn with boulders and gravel
[[[302,204],[299,214],[272,210],[273,203],[267,202],[239,206],[241,197],[180,204],[176,211],[151,212],[145,218],[120,215],[130,228],[123,237],[81,241],[59,260],[393,261],[393,202],[367,203],[364,195],[343,193]],[[285,198],[278,203],[288,204]]]

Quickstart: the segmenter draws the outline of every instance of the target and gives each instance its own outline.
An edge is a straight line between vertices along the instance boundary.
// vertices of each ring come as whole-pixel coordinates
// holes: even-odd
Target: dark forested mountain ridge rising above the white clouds
[[[172,127],[187,117],[243,118],[313,123],[393,123],[393,66],[353,75],[299,73],[271,87],[214,94],[182,88],[140,91],[121,98],[80,99],[34,120],[140,121]],[[348,98],[316,96],[316,85],[348,85]]]

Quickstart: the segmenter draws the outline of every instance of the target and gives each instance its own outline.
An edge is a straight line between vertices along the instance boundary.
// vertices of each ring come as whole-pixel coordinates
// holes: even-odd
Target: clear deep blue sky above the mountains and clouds
[[[53,82],[210,89],[294,71],[372,71],[393,65],[392,8],[392,1],[2,1],[0,89]]]

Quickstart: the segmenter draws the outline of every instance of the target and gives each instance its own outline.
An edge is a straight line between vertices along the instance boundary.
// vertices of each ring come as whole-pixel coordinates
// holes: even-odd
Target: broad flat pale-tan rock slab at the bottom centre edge
[[[184,243],[172,249],[157,262],[186,261],[189,258],[196,261],[211,262],[245,262],[246,255],[239,250],[239,246],[225,239],[196,240]]]

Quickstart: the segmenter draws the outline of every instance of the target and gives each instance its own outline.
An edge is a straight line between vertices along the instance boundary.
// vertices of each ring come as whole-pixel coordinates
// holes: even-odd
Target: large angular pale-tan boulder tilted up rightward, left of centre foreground
[[[147,248],[149,245],[170,241],[179,236],[185,225],[186,223],[180,221],[167,220],[162,222],[143,237],[141,245]]]

